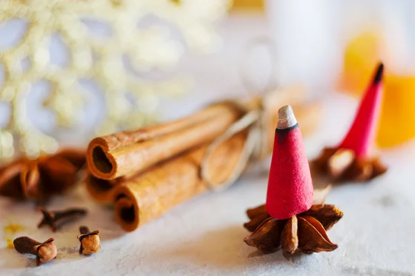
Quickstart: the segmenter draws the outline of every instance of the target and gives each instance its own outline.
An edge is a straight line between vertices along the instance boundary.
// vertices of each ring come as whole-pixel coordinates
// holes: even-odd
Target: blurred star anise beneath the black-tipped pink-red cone
[[[378,157],[359,158],[346,148],[324,148],[313,164],[335,181],[368,181],[387,171]]]

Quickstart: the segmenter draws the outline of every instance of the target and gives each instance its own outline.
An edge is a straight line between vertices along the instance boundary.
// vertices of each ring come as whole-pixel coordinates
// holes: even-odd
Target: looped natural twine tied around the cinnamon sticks
[[[262,104],[262,101],[263,100],[261,100],[261,103],[252,110],[248,110],[245,106],[239,105],[239,103],[235,102],[235,104],[240,106],[241,110],[245,110],[245,115],[243,115],[241,119],[235,121],[234,124],[232,124],[228,130],[223,133],[223,135],[220,135],[214,139],[214,141],[212,141],[212,143],[208,146],[201,162],[201,177],[210,190],[214,190],[215,192],[225,190],[234,184],[237,179],[239,179],[243,170],[246,166],[248,166],[248,164],[250,164],[251,161],[261,160],[266,156],[267,123],[266,116],[264,116],[264,105]],[[230,137],[245,129],[248,129],[248,135],[245,144],[243,145],[239,161],[237,161],[234,169],[224,181],[215,183],[207,170],[212,152],[214,152],[224,141],[230,139]]]

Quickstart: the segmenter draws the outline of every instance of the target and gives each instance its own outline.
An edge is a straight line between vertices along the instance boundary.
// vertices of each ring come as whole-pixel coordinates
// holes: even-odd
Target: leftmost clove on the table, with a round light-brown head
[[[30,237],[18,237],[13,241],[17,252],[22,254],[32,254],[36,256],[36,265],[50,262],[56,258],[57,249],[53,243],[53,238],[45,242],[37,242]]]

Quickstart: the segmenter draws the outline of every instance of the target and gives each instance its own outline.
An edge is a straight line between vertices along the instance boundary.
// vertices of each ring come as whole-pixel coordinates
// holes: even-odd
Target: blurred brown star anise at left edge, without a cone
[[[47,199],[73,186],[84,164],[84,151],[74,149],[34,160],[21,157],[0,168],[0,195],[14,199]]]

